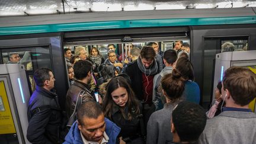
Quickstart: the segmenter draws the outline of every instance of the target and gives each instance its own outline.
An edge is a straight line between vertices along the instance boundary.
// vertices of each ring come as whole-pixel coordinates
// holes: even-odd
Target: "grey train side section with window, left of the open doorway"
[[[50,34],[48,34],[50,35]],[[33,90],[33,72],[38,68],[50,68],[55,75],[55,89],[59,95],[60,107],[65,107],[68,90],[66,65],[62,55],[61,36],[0,37],[1,63],[20,63],[25,66],[27,79]],[[25,36],[24,36],[25,37]],[[36,37],[36,38],[33,38]]]

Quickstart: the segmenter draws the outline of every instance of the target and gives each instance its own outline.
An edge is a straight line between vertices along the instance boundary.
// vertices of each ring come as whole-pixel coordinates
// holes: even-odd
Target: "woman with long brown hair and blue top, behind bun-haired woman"
[[[200,102],[200,89],[199,85],[194,82],[194,70],[192,63],[185,57],[178,57],[172,69],[181,73],[185,79],[185,89],[183,97],[185,100],[199,104]]]

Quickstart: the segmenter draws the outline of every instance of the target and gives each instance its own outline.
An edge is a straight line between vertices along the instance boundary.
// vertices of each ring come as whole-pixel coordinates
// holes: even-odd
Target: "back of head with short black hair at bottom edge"
[[[173,142],[197,143],[206,126],[206,119],[205,111],[200,105],[189,101],[180,102],[172,111],[171,132]]]

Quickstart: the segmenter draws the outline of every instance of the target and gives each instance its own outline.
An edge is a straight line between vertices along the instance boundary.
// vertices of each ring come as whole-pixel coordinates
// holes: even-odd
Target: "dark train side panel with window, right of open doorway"
[[[205,37],[203,56],[203,104],[212,101],[215,57],[217,53],[247,50],[248,37]]]

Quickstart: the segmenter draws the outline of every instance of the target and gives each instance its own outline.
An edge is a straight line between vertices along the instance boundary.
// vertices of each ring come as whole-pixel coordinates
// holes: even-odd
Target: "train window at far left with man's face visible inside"
[[[33,81],[34,70],[38,68],[52,69],[49,47],[2,49],[1,52],[3,63],[20,63],[21,65],[25,66],[32,90],[35,87]]]

